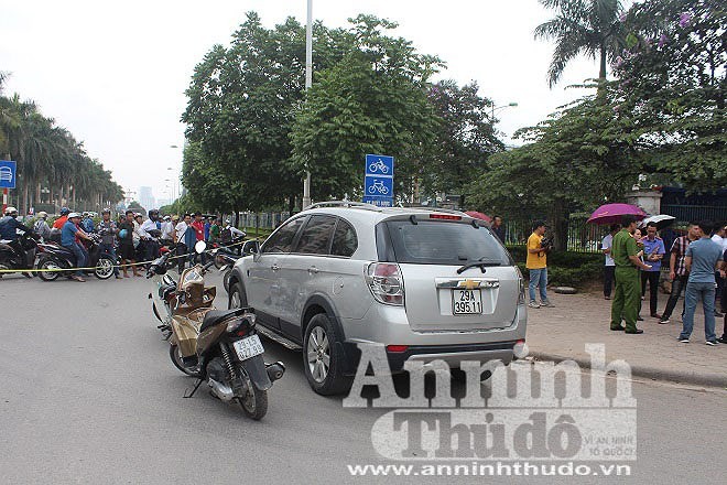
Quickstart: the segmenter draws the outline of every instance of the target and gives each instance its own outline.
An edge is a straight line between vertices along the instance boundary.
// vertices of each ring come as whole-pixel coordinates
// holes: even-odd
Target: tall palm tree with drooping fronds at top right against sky
[[[620,0],[539,0],[557,11],[555,19],[535,28],[535,39],[555,40],[555,52],[547,69],[553,87],[565,66],[580,54],[600,61],[598,80],[606,79],[606,63],[615,61],[623,48]]]

